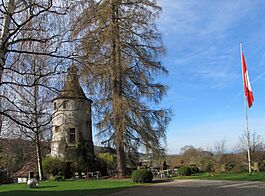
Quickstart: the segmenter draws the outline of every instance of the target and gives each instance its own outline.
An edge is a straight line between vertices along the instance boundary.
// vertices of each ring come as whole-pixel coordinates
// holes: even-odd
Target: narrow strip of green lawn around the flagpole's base
[[[178,176],[174,179],[201,179],[201,180],[235,180],[235,181],[265,181],[265,173],[240,174],[197,174],[192,176]]]

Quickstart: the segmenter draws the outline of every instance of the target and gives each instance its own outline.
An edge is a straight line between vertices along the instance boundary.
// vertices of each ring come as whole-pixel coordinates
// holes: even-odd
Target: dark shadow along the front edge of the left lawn
[[[54,186],[49,186],[54,187]],[[56,186],[55,186],[56,187]],[[37,189],[44,189],[47,186],[39,187]],[[102,188],[102,189],[83,189],[83,190],[66,190],[66,191],[35,191],[34,189],[31,190],[17,190],[17,191],[7,191],[1,192],[1,196],[97,196],[97,195],[108,195],[110,193],[114,193],[120,191],[122,189],[129,188],[129,187],[122,187],[122,188]]]

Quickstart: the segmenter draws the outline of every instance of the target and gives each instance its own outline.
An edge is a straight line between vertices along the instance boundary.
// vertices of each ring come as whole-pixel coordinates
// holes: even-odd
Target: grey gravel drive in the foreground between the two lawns
[[[128,188],[111,196],[265,196],[265,183],[214,180],[176,180]]]

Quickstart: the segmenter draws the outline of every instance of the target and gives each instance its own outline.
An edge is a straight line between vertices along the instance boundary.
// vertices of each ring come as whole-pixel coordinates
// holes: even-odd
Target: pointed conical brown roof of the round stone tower
[[[83,89],[81,88],[79,84],[77,71],[78,71],[78,68],[76,66],[71,66],[68,69],[67,76],[64,81],[64,88],[54,100],[56,99],[85,99],[92,103],[92,100],[86,97]]]

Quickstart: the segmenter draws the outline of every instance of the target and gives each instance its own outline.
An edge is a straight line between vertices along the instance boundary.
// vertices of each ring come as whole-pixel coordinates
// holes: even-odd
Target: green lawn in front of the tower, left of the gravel
[[[125,180],[76,180],[63,182],[41,182],[38,188],[30,189],[26,184],[0,186],[1,196],[81,196],[104,195],[120,189],[139,186],[131,179]]]

